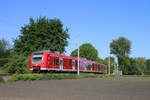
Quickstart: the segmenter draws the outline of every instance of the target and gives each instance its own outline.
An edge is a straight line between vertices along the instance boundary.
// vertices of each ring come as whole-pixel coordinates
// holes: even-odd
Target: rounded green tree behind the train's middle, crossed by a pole
[[[78,56],[78,49],[72,51],[71,56]],[[98,51],[90,43],[85,43],[80,46],[80,57],[96,61],[98,59]]]

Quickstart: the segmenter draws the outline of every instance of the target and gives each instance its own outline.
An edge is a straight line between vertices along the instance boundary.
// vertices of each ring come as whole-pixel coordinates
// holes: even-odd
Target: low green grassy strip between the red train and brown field
[[[94,73],[81,73],[80,76],[71,73],[59,73],[59,74],[14,74],[8,79],[9,82],[12,81],[26,81],[26,80],[62,80],[62,79],[79,79],[79,78],[101,78],[110,77],[104,74],[94,74]]]

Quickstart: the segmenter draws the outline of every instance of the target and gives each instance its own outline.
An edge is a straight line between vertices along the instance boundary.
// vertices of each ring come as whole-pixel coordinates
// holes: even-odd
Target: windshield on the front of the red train
[[[39,64],[42,61],[43,53],[33,53],[32,63]]]

